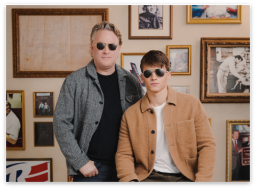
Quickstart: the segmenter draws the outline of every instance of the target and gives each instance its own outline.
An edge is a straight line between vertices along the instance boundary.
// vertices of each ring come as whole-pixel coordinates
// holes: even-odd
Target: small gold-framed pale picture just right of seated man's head
[[[191,75],[191,45],[167,45],[166,55],[173,76]]]

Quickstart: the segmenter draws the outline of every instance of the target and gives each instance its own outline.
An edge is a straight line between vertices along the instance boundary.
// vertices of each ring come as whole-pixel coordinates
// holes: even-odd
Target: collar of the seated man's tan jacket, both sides
[[[166,104],[177,104],[177,92],[172,88],[167,86],[168,94],[167,94],[167,102]],[[148,93],[146,93],[141,100],[141,112],[145,112],[152,107],[149,104]]]

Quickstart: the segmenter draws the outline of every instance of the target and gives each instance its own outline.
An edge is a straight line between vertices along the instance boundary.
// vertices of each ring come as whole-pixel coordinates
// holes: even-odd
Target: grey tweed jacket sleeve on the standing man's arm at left
[[[66,78],[54,111],[53,129],[60,150],[70,165],[77,171],[89,162],[86,153],[81,150],[73,134],[74,89]]]

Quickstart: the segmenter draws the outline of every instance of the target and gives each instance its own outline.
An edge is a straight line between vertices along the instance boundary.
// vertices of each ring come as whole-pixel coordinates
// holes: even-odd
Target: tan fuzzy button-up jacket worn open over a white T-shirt
[[[198,98],[168,87],[163,120],[169,151],[181,174],[195,182],[212,182],[216,144]],[[155,152],[156,116],[146,93],[123,114],[116,153],[119,182],[147,178]]]

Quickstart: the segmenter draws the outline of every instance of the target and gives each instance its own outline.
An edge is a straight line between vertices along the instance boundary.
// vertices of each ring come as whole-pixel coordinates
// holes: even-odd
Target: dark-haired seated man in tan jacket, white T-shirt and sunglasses
[[[167,86],[167,56],[141,60],[145,96],[123,115],[116,153],[119,182],[211,182],[215,139],[201,102]]]

